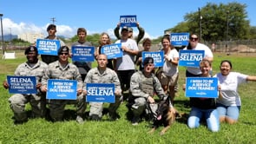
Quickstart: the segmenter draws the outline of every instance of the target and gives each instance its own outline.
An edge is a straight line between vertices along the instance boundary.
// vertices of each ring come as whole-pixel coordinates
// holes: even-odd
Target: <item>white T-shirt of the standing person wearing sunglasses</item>
[[[184,49],[187,49],[184,48]],[[207,45],[202,44],[202,43],[197,43],[196,47],[193,50],[205,50],[205,57],[213,57],[212,50],[207,47]],[[200,68],[198,67],[187,67],[187,71],[193,75],[200,75],[201,71]]]

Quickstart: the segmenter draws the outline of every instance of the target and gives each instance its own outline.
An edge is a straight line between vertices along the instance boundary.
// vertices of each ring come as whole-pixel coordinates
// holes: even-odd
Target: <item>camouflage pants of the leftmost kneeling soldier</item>
[[[12,95],[9,100],[10,108],[14,113],[16,121],[26,121],[28,119],[25,105],[30,102],[32,117],[44,117],[46,114],[45,95]]]

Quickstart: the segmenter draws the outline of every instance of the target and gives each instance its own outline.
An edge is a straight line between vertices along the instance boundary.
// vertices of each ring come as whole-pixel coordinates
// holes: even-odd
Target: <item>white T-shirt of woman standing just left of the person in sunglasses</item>
[[[176,49],[170,49],[170,52],[167,54],[168,59],[171,58],[172,60],[175,58],[179,58],[179,53]],[[165,60],[162,70],[165,75],[173,76],[174,74],[179,72],[177,65],[172,64],[171,62],[167,62]]]

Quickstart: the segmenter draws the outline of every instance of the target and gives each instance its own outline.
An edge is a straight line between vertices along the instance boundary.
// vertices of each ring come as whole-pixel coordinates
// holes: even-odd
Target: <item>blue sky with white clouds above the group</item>
[[[184,21],[187,13],[197,12],[207,3],[242,3],[251,26],[256,26],[256,1],[254,0],[0,0],[3,14],[3,35],[21,35],[42,32],[56,19],[57,36],[72,37],[76,29],[87,29],[88,35],[107,32],[115,38],[114,29],[120,16],[136,15],[145,36],[157,38],[165,29]],[[138,33],[134,29],[135,35]]]

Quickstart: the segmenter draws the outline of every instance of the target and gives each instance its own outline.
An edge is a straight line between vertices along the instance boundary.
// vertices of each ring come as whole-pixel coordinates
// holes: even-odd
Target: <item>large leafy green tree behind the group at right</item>
[[[250,37],[250,25],[247,20],[246,4],[241,3],[207,3],[198,11],[184,16],[185,22],[179,23],[172,32],[189,32],[200,36],[203,41],[226,40],[226,28],[228,26],[228,40],[247,39]]]

